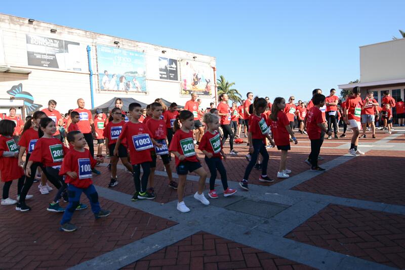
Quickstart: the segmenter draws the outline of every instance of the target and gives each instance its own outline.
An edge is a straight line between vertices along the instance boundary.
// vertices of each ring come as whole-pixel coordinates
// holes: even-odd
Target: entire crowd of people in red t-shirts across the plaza
[[[57,192],[47,210],[64,212],[61,230],[76,230],[70,222],[74,211],[88,207],[80,202],[82,193],[88,197],[96,218],[108,216],[110,211],[101,208],[92,182],[93,174],[101,173],[95,166],[104,162],[105,153],[109,156],[108,169],[111,173],[108,187],[118,185],[117,164],[120,160],[133,175],[132,201],[156,197],[154,174],[156,163],[161,160],[168,176],[168,188],[177,190],[177,210],[188,212],[190,209],[183,198],[189,172],[199,176],[194,198],[204,205],[210,204],[204,195],[208,173],[197,158],[195,148],[204,154],[204,162],[209,168],[208,197],[216,199],[217,171],[221,175],[223,196],[237,192],[228,186],[227,171],[222,162],[228,154],[239,154],[234,148],[235,143],[246,143],[249,150],[243,157],[249,163],[239,182],[240,188],[248,191],[253,168],[261,170],[260,182],[274,181],[267,174],[268,148],[276,147],[281,151],[276,177],[289,177],[291,170],[287,168],[287,156],[290,144],[298,144],[295,128],[310,140],[311,151],[305,162],[312,171],[323,171],[325,169],[318,165],[318,160],[322,159],[319,153],[326,135],[327,139],[345,137],[349,127],[352,130],[349,154],[364,155],[357,148],[358,140],[366,138],[369,127],[373,138],[376,138],[376,123],[380,121],[378,125],[391,133],[392,107],[395,106],[399,125],[404,124],[405,118],[401,100],[395,102],[389,93],[385,93],[380,107],[372,92],[362,100],[358,87],[354,87],[344,100],[336,96],[335,89],[331,89],[328,96],[322,95],[321,89],[314,89],[308,103],[295,103],[294,96],[288,100],[277,97],[270,102],[268,97],[254,97],[249,92],[239,106],[235,102],[230,106],[229,97],[221,94],[217,107],[211,103],[209,108],[204,109],[197,98],[196,94],[191,94],[184,108],[176,103],[167,107],[156,99],[146,108],[131,103],[126,111],[123,101],[116,99],[111,111],[96,109],[95,115],[85,108],[83,99],[78,99],[78,107],[65,115],[55,109],[57,102],[50,100],[48,108],[34,112],[25,119],[25,123],[16,116],[16,109],[11,108],[9,115],[0,115],[0,173],[4,182],[1,204],[16,204],[16,210],[29,211],[31,208],[26,200],[33,197],[28,194],[33,183],[40,182],[38,188],[41,194],[49,194],[53,190],[48,184],[50,182]],[[343,133],[338,136],[340,122]],[[94,141],[97,142],[96,156]],[[227,141],[229,151],[224,150]],[[178,182],[172,175],[172,156],[175,158]],[[17,181],[17,200],[9,196],[14,180]],[[60,205],[62,200],[67,203],[65,207]]]

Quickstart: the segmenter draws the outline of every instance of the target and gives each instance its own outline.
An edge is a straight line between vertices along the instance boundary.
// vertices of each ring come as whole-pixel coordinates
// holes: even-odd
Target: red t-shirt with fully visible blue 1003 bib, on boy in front
[[[126,123],[119,138],[128,142],[132,165],[152,161],[150,156],[150,151],[154,149],[151,141],[152,133],[145,123],[133,123],[131,121]]]

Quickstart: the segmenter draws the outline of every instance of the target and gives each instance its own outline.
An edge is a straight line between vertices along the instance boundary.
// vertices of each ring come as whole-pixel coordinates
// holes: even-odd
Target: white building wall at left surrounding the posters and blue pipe
[[[51,33],[50,29],[56,29]],[[80,43],[79,68],[65,70],[48,67],[29,66],[27,60],[26,34],[34,34],[61,40]],[[99,87],[97,45],[117,47],[114,41],[119,42],[119,48],[144,52],[146,59],[146,89],[147,93],[126,93],[104,91]],[[88,32],[84,30],[34,21],[28,23],[28,19],[0,14],[0,65],[30,70],[30,74],[0,73],[0,98],[10,98],[7,93],[14,85],[22,84],[22,91],[27,92],[34,99],[34,104],[47,106],[49,99],[58,102],[57,109],[67,112],[68,109],[76,108],[76,100],[84,98],[86,107],[91,107],[90,95],[90,72],[88,66],[87,46],[91,48],[91,62],[93,69],[94,105],[103,104],[114,97],[131,97],[144,103],[151,103],[156,98],[164,98],[170,102],[184,105],[189,96],[180,95],[181,70],[180,59],[190,63],[201,63],[210,67],[212,76],[216,60],[214,57],[189,53],[176,49],[155,46],[143,42]],[[162,51],[166,51],[164,54]],[[178,80],[159,79],[158,58],[166,57],[178,61]],[[196,59],[193,59],[196,57]],[[101,71],[102,72],[102,71]],[[214,80],[211,82],[214,83]],[[212,96],[201,96],[203,106],[209,107],[209,103],[215,98],[215,87],[212,87]],[[42,108],[44,108],[42,107]],[[41,108],[41,109],[42,109]]]

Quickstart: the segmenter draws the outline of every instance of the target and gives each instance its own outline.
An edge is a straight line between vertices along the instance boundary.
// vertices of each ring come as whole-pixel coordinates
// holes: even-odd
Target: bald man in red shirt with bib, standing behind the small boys
[[[73,111],[79,113],[79,122],[77,125],[79,126],[79,130],[84,134],[87,145],[89,146],[89,151],[92,157],[94,157],[94,144],[93,144],[93,137],[96,137],[96,131],[94,128],[94,118],[88,109],[85,109],[85,100],[78,99],[77,100],[77,109]],[[71,119],[67,120],[67,126],[69,127],[71,123]]]

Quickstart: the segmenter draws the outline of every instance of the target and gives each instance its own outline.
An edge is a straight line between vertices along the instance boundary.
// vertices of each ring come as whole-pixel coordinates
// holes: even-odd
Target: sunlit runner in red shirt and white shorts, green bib
[[[352,89],[352,95],[346,101],[345,121],[346,124],[353,130],[353,137],[351,138],[351,144],[349,154],[352,156],[364,155],[363,152],[357,149],[358,137],[360,134],[360,115],[361,110],[364,109],[366,104],[360,98],[360,88],[358,86]]]

